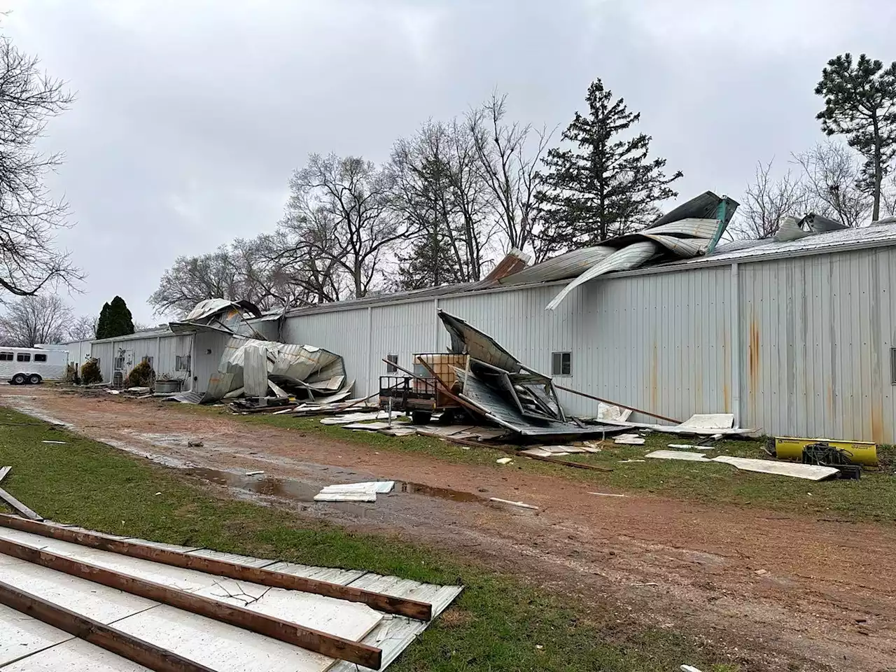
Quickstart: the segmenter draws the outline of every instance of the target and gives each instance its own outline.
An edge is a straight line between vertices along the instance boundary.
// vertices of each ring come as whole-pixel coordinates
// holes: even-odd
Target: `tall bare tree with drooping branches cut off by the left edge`
[[[34,148],[47,119],[72,101],[37,58],[0,36],[0,287],[17,296],[82,280],[69,254],[53,245],[56,230],[68,226],[68,208],[50,197],[43,178],[62,157]]]

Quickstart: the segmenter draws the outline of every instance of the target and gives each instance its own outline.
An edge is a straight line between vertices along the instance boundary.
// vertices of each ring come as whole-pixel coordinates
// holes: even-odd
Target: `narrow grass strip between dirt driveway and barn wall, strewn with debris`
[[[321,425],[318,418],[291,418],[265,414],[233,416],[220,407],[187,406],[180,404],[175,411],[224,415],[249,424],[277,426],[307,435],[367,445],[376,450],[431,455],[440,460],[476,464],[493,469],[522,469],[534,473],[553,474],[587,482],[593,487],[647,491],[658,495],[710,504],[735,504],[774,509],[788,513],[805,513],[815,517],[847,521],[896,521],[896,478],[893,465],[896,450],[892,446],[878,449],[882,467],[866,470],[858,481],[828,480],[813,482],[800,478],[770,476],[740,471],[728,464],[702,462],[639,460],[650,451],[668,448],[668,444],[693,444],[699,437],[651,434],[647,443],[639,446],[612,444],[597,454],[576,453],[562,458],[582,461],[613,469],[610,473],[577,470],[543,461],[517,458],[512,466],[498,466],[495,460],[504,452],[488,448],[463,450],[426,436],[386,436],[367,432],[348,432],[338,426]],[[715,444],[716,450],[706,451],[708,457],[721,454],[737,457],[768,458],[762,449],[764,441],[728,440]]]

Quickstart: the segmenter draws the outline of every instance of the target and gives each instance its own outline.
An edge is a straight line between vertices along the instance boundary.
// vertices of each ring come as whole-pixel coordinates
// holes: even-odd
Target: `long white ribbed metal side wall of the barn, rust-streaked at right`
[[[386,355],[407,366],[447,348],[439,307],[542,373],[552,352],[570,351],[573,375],[555,381],[582,392],[670,418],[734,413],[772,435],[894,443],[892,269],[896,246],[634,271],[586,283],[554,312],[544,306],[559,284],[328,307],[290,316],[282,334],[340,353],[356,391],[370,393]],[[562,401],[596,412],[594,401]]]

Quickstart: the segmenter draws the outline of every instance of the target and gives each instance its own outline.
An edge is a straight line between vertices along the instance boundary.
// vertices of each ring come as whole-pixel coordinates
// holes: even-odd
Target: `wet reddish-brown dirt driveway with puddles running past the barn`
[[[0,387],[0,403],[241,496],[447,547],[697,634],[747,669],[896,670],[896,527],[592,495],[584,483],[513,467],[377,452],[152,401]],[[202,447],[187,446],[194,438]],[[246,478],[247,470],[265,473]],[[323,485],[370,477],[401,483],[375,504],[310,502]],[[538,513],[496,508],[488,497],[534,504]]]

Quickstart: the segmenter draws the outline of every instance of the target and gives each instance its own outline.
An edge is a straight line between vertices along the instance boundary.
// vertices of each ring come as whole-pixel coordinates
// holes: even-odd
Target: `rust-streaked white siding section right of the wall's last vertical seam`
[[[745,424],[892,444],[896,249],[742,266]]]

